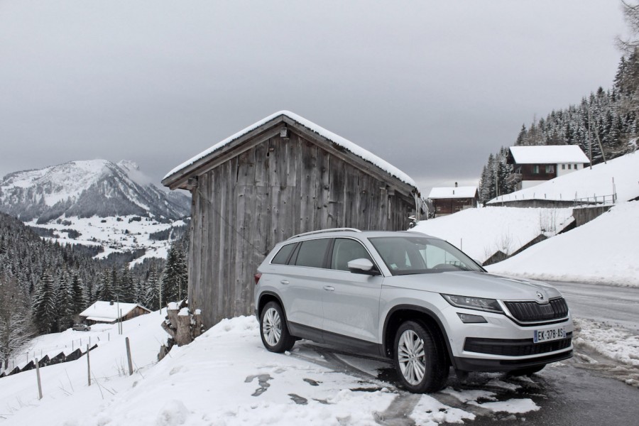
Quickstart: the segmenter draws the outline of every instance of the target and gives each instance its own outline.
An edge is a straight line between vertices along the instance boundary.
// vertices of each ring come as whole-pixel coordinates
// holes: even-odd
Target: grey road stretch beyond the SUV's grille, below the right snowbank
[[[639,288],[548,282],[562,292],[575,318],[617,324],[639,334]]]

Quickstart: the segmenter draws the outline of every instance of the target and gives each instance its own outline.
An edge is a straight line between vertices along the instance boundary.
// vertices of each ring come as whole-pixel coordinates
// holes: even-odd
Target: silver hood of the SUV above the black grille
[[[557,289],[540,281],[470,271],[395,275],[384,278],[383,285],[499,300],[545,302],[561,296]]]

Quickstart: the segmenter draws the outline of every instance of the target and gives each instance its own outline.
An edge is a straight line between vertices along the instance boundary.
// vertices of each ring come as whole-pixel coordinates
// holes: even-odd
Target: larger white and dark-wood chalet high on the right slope
[[[508,164],[513,165],[513,173],[506,182],[514,183],[515,190],[525,190],[581,170],[588,163],[588,157],[577,145],[511,146]]]

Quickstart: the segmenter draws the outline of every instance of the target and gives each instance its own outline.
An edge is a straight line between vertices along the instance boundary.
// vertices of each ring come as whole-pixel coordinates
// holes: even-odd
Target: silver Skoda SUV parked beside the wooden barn
[[[277,244],[255,275],[262,342],[298,339],[393,359],[400,385],[435,392],[449,367],[532,374],[572,356],[559,291],[486,273],[442,239],[326,229]]]

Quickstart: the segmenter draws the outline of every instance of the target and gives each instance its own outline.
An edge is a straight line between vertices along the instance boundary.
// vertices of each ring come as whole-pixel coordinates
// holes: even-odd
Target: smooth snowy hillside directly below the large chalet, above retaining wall
[[[623,155],[594,165],[592,170],[586,167],[582,170],[560,176],[547,182],[535,185],[525,190],[501,195],[488,204],[513,200],[574,200],[598,197],[602,200],[607,195],[606,202],[611,202],[614,188],[619,201],[633,200],[639,197],[639,151]]]

